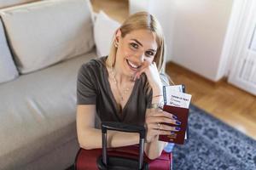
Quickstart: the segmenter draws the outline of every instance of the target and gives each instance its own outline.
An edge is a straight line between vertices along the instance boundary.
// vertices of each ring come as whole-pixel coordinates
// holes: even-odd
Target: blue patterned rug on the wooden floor
[[[189,141],[175,145],[173,170],[256,170],[256,140],[191,105]]]

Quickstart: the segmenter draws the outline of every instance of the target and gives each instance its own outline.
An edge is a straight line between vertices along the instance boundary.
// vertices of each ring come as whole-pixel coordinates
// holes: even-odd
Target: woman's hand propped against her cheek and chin
[[[138,79],[143,74],[143,72],[146,74],[148,78],[148,83],[151,86],[151,88],[153,89],[162,88],[160,74],[155,62],[151,63],[150,61],[145,60],[140,70],[137,71],[137,73],[135,74],[134,78]]]

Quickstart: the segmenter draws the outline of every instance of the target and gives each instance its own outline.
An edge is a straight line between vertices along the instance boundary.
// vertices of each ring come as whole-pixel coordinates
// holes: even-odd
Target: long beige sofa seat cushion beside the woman
[[[92,58],[95,50],[0,86],[0,169],[22,169],[77,138],[77,75]]]

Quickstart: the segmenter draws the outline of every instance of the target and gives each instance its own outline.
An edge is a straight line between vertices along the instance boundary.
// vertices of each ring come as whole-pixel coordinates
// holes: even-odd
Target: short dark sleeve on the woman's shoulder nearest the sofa
[[[80,67],[77,81],[77,105],[96,105],[96,83],[89,64]]]

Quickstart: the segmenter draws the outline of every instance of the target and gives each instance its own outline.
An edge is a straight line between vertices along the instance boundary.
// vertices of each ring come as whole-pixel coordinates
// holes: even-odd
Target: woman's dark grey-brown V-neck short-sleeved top
[[[107,57],[91,59],[79,69],[77,104],[96,105],[97,128],[100,127],[101,121],[143,125],[146,109],[152,100],[152,91],[147,94],[146,75],[143,74],[136,80],[131,96],[120,112],[108,82],[106,59]]]

